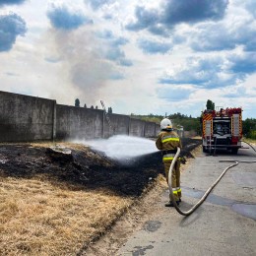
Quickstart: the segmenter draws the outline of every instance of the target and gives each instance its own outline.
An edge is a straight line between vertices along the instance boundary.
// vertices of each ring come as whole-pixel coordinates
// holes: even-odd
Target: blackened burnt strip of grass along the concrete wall
[[[182,139],[183,164],[187,158],[193,158],[191,151],[200,144],[199,139]],[[54,184],[71,185],[73,189],[106,188],[121,196],[138,197],[159,173],[163,173],[160,152],[121,163],[87,147],[69,149],[71,154],[67,155],[30,144],[1,144],[0,176],[39,176]]]

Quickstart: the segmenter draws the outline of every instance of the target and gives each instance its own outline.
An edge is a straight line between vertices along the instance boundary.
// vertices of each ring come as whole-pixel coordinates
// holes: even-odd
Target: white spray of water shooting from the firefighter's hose
[[[84,143],[96,151],[103,152],[108,158],[120,162],[158,151],[155,141],[126,135],[116,135],[107,140],[86,141]]]

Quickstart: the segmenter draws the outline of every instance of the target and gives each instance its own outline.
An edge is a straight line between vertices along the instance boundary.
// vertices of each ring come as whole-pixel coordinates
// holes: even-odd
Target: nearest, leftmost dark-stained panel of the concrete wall
[[[55,100],[0,92],[0,142],[50,140]]]

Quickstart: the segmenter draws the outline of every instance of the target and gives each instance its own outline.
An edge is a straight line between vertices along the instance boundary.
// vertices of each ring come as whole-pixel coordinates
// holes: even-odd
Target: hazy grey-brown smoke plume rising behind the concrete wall
[[[88,106],[94,104],[101,98],[99,90],[112,68],[101,58],[100,42],[88,28],[52,32],[63,70],[68,73],[69,90],[77,92],[80,101]]]

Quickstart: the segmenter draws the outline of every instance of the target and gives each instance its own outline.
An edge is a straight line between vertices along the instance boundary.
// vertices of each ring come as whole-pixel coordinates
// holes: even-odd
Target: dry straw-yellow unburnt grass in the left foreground
[[[0,255],[76,255],[132,199],[108,191],[0,178]]]

